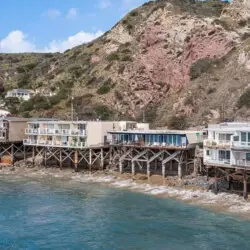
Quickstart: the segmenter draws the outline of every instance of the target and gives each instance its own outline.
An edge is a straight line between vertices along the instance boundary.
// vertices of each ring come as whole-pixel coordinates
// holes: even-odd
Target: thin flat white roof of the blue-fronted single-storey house
[[[177,134],[177,135],[185,135],[185,134],[197,134],[202,133],[202,131],[192,131],[192,130],[126,130],[126,131],[110,131],[110,134]]]

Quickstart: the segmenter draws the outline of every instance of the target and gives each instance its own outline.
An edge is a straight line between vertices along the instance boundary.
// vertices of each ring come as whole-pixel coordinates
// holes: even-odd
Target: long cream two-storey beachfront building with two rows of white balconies
[[[139,124],[139,128],[148,124]],[[32,120],[26,129],[25,145],[84,148],[108,143],[108,131],[137,128],[126,121],[41,121]]]

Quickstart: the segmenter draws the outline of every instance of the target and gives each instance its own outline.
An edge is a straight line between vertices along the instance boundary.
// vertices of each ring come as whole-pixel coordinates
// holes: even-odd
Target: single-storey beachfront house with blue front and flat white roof
[[[201,143],[201,131],[182,130],[132,130],[110,131],[111,144],[143,147],[194,148]]]

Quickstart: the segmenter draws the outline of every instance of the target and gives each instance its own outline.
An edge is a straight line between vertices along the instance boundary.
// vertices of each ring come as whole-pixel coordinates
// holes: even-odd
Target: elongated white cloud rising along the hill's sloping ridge
[[[68,37],[64,41],[52,41],[47,48],[45,48],[46,52],[63,52],[67,49],[70,49],[72,47],[75,47],[77,45],[90,42],[97,37],[101,36],[103,34],[102,31],[97,31],[96,33],[88,33],[84,31],[80,31],[76,33],[74,36]]]

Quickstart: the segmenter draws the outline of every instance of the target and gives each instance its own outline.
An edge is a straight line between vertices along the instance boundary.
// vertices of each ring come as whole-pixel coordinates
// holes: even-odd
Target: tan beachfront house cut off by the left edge
[[[27,118],[1,117],[0,118],[0,142],[18,142],[25,138]]]

